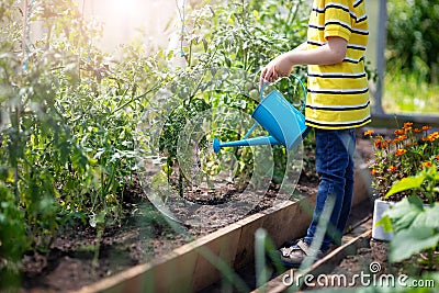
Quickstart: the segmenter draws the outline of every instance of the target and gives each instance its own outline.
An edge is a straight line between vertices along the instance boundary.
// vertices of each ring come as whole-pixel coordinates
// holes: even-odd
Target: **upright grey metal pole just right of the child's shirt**
[[[379,25],[376,42],[376,71],[378,82],[375,92],[375,114],[384,114],[382,97],[384,92],[384,72],[385,72],[385,46],[387,38],[387,0],[380,0]]]

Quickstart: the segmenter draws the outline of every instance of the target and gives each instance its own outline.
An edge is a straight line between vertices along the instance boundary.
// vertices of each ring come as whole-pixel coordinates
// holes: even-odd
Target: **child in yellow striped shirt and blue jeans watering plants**
[[[315,128],[316,169],[319,176],[316,206],[304,239],[282,248],[288,267],[299,267],[306,256],[322,257],[340,244],[353,192],[354,128],[370,122],[364,53],[368,18],[363,0],[314,0],[307,42],[271,60],[260,82],[289,77],[294,65],[308,65],[306,124]],[[319,216],[329,198],[335,201],[318,251],[312,251]]]

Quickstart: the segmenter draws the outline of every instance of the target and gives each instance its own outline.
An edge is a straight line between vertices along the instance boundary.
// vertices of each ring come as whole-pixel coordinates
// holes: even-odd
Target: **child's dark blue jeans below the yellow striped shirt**
[[[319,177],[313,221],[307,229],[305,243],[311,245],[326,200],[334,196],[335,205],[320,249],[325,252],[330,244],[341,244],[353,193],[354,129],[326,131],[315,128],[316,169]],[[326,223],[325,223],[326,224]]]

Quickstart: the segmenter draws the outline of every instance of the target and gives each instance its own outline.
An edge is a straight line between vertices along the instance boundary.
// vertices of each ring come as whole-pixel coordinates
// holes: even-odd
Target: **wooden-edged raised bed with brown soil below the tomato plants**
[[[359,139],[361,151],[363,146],[367,147]],[[361,156],[368,156],[367,151],[364,149]],[[369,171],[364,165],[358,166],[362,169],[357,172],[354,205],[369,196]],[[226,264],[239,270],[252,261],[254,233],[257,228],[266,228],[275,245],[304,234],[316,187],[317,181],[304,177],[296,188],[304,195],[302,200],[275,206],[270,203],[271,193],[275,193],[275,190],[270,189],[267,201],[255,209],[251,215],[218,230],[177,225],[153,209],[146,198],[142,200],[144,195],[139,199],[142,190],[131,190],[125,194],[125,200],[133,215],[126,217],[120,227],[105,229],[101,239],[97,239],[95,230],[90,227],[65,230],[48,255],[25,256],[23,290],[59,292],[86,286],[83,292],[98,292],[117,288],[123,280],[132,280],[130,292],[135,292],[135,289],[142,292],[145,284],[153,285],[148,289],[162,289],[162,284],[172,286],[177,281],[181,285],[180,281],[188,274],[194,279],[183,283],[192,291],[201,290],[217,281],[221,274],[204,257],[196,256],[200,252],[194,252],[194,247],[207,247],[207,253],[219,256]],[[307,206],[308,212],[303,206]],[[285,225],[294,229],[285,232],[282,228]],[[169,261],[176,258],[184,264],[170,264]],[[171,273],[165,273],[169,268],[172,268]]]

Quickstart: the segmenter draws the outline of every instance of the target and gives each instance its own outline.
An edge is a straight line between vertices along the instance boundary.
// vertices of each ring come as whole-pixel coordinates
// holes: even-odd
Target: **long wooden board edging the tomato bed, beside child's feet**
[[[356,177],[356,200],[368,198],[361,176]],[[94,292],[185,292],[199,291],[221,279],[217,268],[206,255],[221,258],[233,269],[254,260],[255,232],[262,227],[274,245],[302,237],[309,224],[316,194],[297,202],[284,202],[221,228],[161,256],[150,263],[135,266],[113,277],[82,288]],[[354,203],[352,203],[354,204]]]

